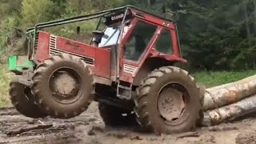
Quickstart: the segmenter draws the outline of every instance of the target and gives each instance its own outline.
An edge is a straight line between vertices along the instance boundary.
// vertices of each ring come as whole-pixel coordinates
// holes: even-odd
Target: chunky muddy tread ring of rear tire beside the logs
[[[160,67],[157,70],[152,71],[150,74],[148,74],[148,77],[143,79],[141,82],[141,86],[138,88],[138,94],[136,97],[134,97],[134,111],[135,114],[137,115],[136,120],[138,123],[142,126],[143,129],[146,130],[153,130],[156,134],[172,134],[172,133],[181,133],[181,132],[186,132],[189,130],[194,129],[196,126],[199,117],[200,117],[200,112],[198,110],[198,115],[196,118],[190,118],[190,124],[187,124],[186,127],[182,127],[181,130],[161,130],[158,129],[158,125],[156,122],[154,122],[153,118],[150,117],[150,110],[149,108],[149,95],[150,95],[150,90],[151,87],[154,86],[156,82],[158,82],[159,78],[162,78],[166,74],[180,74],[182,77],[186,77],[187,81],[190,83],[190,86],[194,86],[192,89],[197,90],[197,94],[199,94],[199,86],[195,82],[194,78],[188,74],[186,70],[182,70],[178,67],[175,66],[164,66]],[[202,108],[202,104],[199,103],[196,106],[196,109]]]

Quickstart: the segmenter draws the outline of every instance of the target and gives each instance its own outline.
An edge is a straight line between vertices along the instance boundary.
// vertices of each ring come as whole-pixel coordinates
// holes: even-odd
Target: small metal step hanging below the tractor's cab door
[[[130,84],[130,86],[123,86],[120,85],[120,82],[118,82],[117,97],[121,99],[130,100],[132,94],[132,86],[132,84]]]

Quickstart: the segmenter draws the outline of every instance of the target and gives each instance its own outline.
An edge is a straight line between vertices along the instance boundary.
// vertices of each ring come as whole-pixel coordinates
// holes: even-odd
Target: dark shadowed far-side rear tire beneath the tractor
[[[124,110],[105,103],[98,103],[99,114],[106,126],[135,126],[136,115],[131,110]]]

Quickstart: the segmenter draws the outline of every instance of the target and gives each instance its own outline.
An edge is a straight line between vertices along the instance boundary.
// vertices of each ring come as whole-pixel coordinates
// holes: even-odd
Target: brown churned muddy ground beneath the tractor
[[[52,126],[11,134],[14,130],[38,125]],[[256,118],[245,118],[218,127],[202,127],[186,134],[157,136],[138,132],[136,126],[105,127],[96,102],[79,117],[68,120],[26,118],[13,108],[6,108],[0,110],[0,143],[256,144]]]

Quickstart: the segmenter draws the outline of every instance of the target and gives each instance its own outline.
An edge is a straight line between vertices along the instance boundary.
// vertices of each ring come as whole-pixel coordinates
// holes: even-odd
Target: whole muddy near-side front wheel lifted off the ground
[[[94,100],[94,78],[82,59],[54,55],[38,66],[33,77],[35,100],[52,118],[74,118]]]

